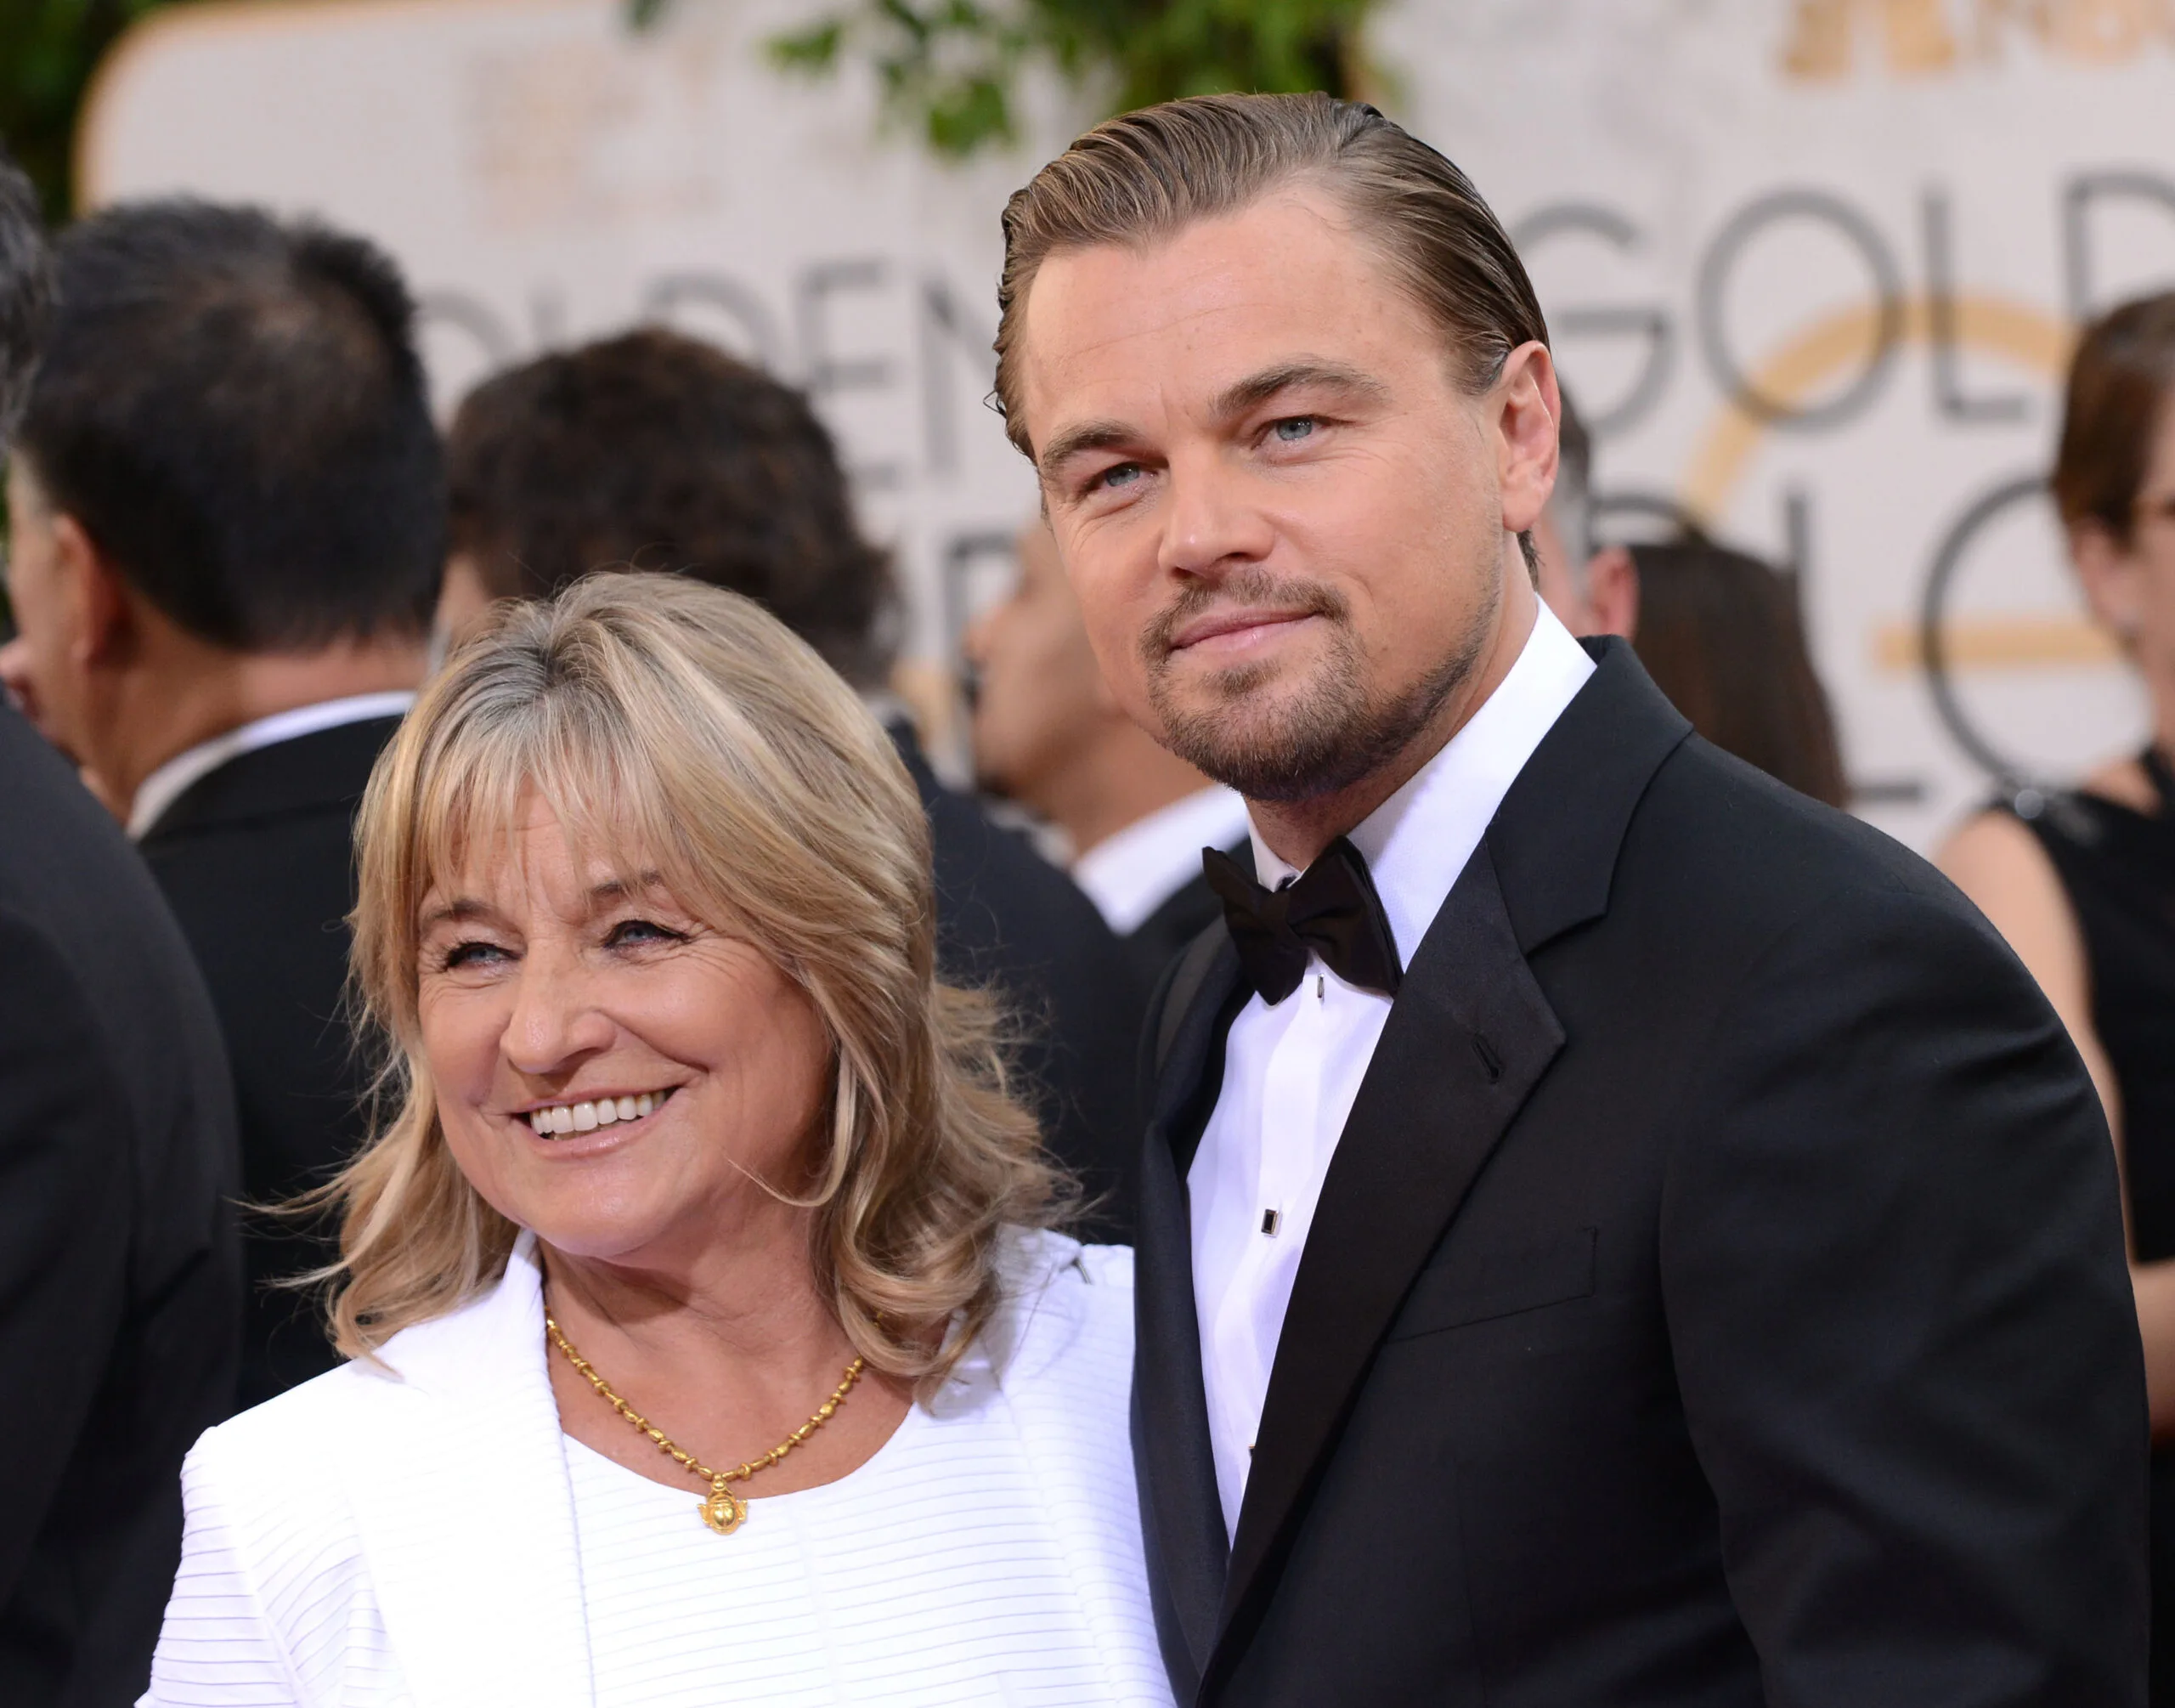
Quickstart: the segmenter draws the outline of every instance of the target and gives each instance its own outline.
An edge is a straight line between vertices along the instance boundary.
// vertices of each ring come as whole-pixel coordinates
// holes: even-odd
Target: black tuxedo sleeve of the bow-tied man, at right
[[[2029,975],[1951,896],[1831,896],[1694,1079],[1662,1288],[1768,1701],[2142,1704],[2114,1151]]]

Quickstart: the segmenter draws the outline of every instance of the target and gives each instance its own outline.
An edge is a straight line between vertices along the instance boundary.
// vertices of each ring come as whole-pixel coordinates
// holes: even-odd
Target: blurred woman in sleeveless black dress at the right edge
[[[1964,825],[1942,868],[2044,986],[2108,1105],[2153,1408],[2153,1704],[2175,1704],[2175,294],[2086,329],[2053,496],[2151,744]]]

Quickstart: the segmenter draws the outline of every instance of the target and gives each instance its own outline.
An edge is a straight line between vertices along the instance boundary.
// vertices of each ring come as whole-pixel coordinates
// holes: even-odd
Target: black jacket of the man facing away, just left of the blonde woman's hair
[[[341,1016],[355,812],[398,718],[296,735],[191,783],[137,844],[211,986],[241,1118],[241,1192],[281,1203],[363,1138],[368,1062]],[[239,1406],[333,1369],[313,1295],[274,1288],[335,1255],[333,1232],[252,1214]]]

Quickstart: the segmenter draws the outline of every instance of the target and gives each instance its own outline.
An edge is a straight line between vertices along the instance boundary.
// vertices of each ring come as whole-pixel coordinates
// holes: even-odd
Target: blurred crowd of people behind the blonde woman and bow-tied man
[[[505,601],[596,570],[694,577],[766,605],[879,709],[929,816],[942,966],[1020,1016],[1048,1144],[1124,1240],[1142,1014],[1220,918],[1203,849],[1255,849],[1240,796],[1111,696],[1040,520],[966,638],[974,788],[953,788],[887,688],[892,564],[794,387],[646,326],[487,379],[442,433],[413,300],[370,242],[170,200],[74,224],[48,263],[30,209],[7,170],[0,1364],[35,1377],[48,1427],[0,1466],[0,1699],[133,1697],[181,1453],[337,1360],[309,1288],[337,1253],[307,1195],[363,1138],[381,1068],[346,1018],[350,827],[428,672]],[[2171,385],[2175,298],[2090,329],[2053,476],[2155,740],[2075,790],[1990,799],[1944,864],[2047,988],[2123,1140],[2175,1434]],[[1627,635],[1707,740],[1847,807],[1792,574],[1696,533],[1603,540],[1594,516],[1566,403],[1546,603]]]

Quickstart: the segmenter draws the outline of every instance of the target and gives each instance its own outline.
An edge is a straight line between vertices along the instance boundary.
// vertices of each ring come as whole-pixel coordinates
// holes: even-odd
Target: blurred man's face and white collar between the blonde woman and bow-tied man
[[[1044,522],[1020,529],[1018,581],[968,629],[966,655],[974,781],[1064,833],[1072,881],[1153,986],[1222,920],[1201,851],[1253,870],[1246,803],[1124,716]]]

